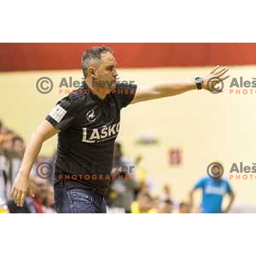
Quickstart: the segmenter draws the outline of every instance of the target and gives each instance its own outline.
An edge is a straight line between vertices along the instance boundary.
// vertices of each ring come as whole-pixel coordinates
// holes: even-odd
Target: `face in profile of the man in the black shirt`
[[[95,73],[99,89],[112,90],[115,87],[116,77],[118,75],[116,66],[116,59],[110,52],[102,54],[102,58],[96,66]],[[100,81],[104,81],[101,86],[99,86]]]

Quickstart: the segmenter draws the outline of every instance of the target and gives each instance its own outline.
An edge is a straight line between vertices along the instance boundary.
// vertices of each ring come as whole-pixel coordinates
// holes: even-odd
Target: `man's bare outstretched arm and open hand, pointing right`
[[[207,82],[210,80],[211,85],[215,86],[219,81],[224,81],[230,75],[228,74],[229,69],[227,67],[216,66],[212,71],[204,77],[204,82],[202,83],[202,88],[205,90],[214,90],[212,86],[207,88]],[[213,79],[215,78],[215,79]],[[218,79],[216,79],[218,78]],[[151,99],[159,99],[163,97],[174,96],[180,93],[185,93],[189,90],[196,89],[195,82],[193,79],[191,81],[182,82],[171,82],[169,84],[158,84],[151,88],[138,88],[137,93],[134,96],[131,104],[137,102],[143,102]]]

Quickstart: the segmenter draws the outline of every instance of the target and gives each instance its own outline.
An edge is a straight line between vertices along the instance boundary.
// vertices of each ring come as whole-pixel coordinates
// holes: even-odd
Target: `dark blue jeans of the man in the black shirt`
[[[106,213],[104,195],[87,189],[55,186],[54,198],[58,213]]]

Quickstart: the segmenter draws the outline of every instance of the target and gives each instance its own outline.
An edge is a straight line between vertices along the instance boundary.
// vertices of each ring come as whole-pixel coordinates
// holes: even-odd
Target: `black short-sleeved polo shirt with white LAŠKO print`
[[[137,85],[116,84],[101,100],[83,84],[61,99],[46,117],[60,129],[55,157],[55,185],[108,192],[120,111],[134,98]],[[110,177],[108,179],[108,177]]]

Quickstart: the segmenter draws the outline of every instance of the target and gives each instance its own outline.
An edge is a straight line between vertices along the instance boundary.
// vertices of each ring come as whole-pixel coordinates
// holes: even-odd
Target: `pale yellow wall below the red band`
[[[134,80],[139,86],[147,86],[173,79],[190,79],[204,75],[209,68],[159,68],[119,70],[122,80]],[[55,84],[49,94],[38,93],[35,84],[42,77],[50,77]],[[19,132],[26,140],[29,134],[52,110],[62,97],[58,84],[62,77],[81,81],[80,70],[33,71],[0,73],[0,119]],[[232,76],[243,76],[252,81],[255,67],[233,67]],[[119,141],[130,157],[143,154],[143,166],[159,192],[164,183],[172,185],[177,199],[186,197],[188,190],[200,175],[206,175],[209,163],[220,161],[224,176],[228,177],[232,163],[244,162],[252,166],[256,162],[254,143],[253,95],[229,95],[231,79],[225,93],[214,95],[207,91],[192,91],[180,96],[131,105],[122,111]],[[138,134],[157,134],[159,145],[137,146]],[[56,139],[52,138],[42,148],[42,154],[52,154]],[[172,167],[168,163],[168,150],[183,148],[183,166]],[[255,204],[254,180],[231,180],[237,203]]]

